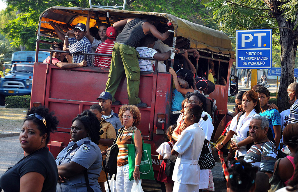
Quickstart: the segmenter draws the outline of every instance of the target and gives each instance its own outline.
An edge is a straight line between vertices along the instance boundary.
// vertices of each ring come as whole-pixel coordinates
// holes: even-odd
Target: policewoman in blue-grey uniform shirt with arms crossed
[[[56,159],[59,174],[57,191],[102,191],[97,182],[102,165],[102,155],[97,146],[101,134],[101,124],[89,110],[72,120],[72,141]]]

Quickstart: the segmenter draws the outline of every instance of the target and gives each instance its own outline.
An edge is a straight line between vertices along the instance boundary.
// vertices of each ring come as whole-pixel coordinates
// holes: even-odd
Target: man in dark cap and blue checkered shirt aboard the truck
[[[74,35],[75,38],[69,38],[69,35]],[[84,55],[75,54],[78,52],[91,53],[91,43],[85,37],[86,25],[83,23],[76,24],[73,30],[66,32],[64,39],[63,51],[69,51],[73,54],[72,63],[80,63],[84,60]],[[68,46],[68,44],[71,44]],[[91,55],[86,55],[87,66],[92,66]]]

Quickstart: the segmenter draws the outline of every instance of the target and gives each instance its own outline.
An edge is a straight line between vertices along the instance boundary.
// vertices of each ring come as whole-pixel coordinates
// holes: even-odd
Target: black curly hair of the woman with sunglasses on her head
[[[41,115],[45,118],[46,126],[44,125],[44,122],[36,118],[35,115],[28,117],[28,115],[34,113]],[[46,138],[46,144],[49,143],[50,133],[57,130],[57,125],[59,123],[57,117],[54,116],[54,112],[49,112],[49,108],[46,108],[44,106],[32,107],[31,110],[28,109],[27,116],[24,122],[25,121],[33,121],[37,125],[38,130],[40,131],[40,136],[44,135],[45,133],[48,135],[48,137]]]

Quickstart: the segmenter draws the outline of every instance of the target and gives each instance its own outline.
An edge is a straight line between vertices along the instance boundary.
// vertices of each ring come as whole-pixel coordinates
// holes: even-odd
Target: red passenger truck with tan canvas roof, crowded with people
[[[40,43],[52,43],[42,40],[41,36],[58,38],[48,21],[54,21],[66,26],[75,26],[77,23],[86,22],[87,13],[90,10],[97,11],[98,18],[103,22],[105,22],[106,16],[110,18],[117,17],[121,20],[129,17],[142,18],[144,15],[155,15],[157,21],[165,27],[167,27],[168,21],[170,21],[173,24],[173,35],[171,35],[170,40],[172,42],[169,46],[197,49],[201,56],[195,67],[199,72],[202,69],[202,63],[207,64],[208,71],[209,60],[214,61],[217,77],[221,73],[227,82],[226,85],[217,84],[215,91],[210,94],[211,98],[217,100],[216,105],[219,110],[218,121],[214,123],[215,130],[212,136],[212,140],[216,141],[221,135],[226,123],[232,119],[232,115],[228,114],[227,110],[227,98],[229,82],[232,82],[230,71],[233,58],[235,58],[235,51],[232,50],[229,37],[223,32],[191,23],[170,14],[97,8],[50,7],[39,18],[36,58],[38,58],[38,51],[44,50],[39,49]],[[114,21],[111,20],[111,23],[114,23]],[[96,22],[91,17],[90,27],[95,25]],[[171,57],[172,64],[173,60],[174,53]],[[55,157],[69,143],[72,119],[77,114],[89,109],[92,104],[97,103],[96,98],[105,90],[108,72],[108,68],[85,67],[61,69],[55,65],[39,63],[37,60],[34,63],[31,106],[45,105],[51,111],[54,111],[59,119],[58,129],[51,135],[48,144],[50,151]],[[237,86],[237,84],[230,85],[232,95],[237,93]],[[123,77],[119,85],[115,98],[122,104],[128,103],[125,77]],[[159,170],[160,161],[155,150],[161,143],[167,140],[165,130],[169,126],[170,121],[172,99],[171,74],[141,72],[139,98],[142,102],[147,103],[148,107],[140,108],[142,120],[138,128],[142,132],[145,143],[151,144],[152,164],[154,170],[157,171]],[[121,105],[112,105],[112,109],[116,113],[119,112],[120,107]]]

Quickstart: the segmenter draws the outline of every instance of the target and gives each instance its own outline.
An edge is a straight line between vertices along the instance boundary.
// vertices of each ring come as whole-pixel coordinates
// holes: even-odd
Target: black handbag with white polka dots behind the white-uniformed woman
[[[199,158],[200,169],[212,169],[215,167],[215,160],[212,154],[210,153],[210,149],[208,147],[208,140],[204,140],[204,145],[202,148],[202,152]]]

